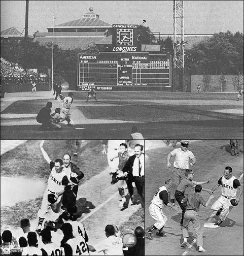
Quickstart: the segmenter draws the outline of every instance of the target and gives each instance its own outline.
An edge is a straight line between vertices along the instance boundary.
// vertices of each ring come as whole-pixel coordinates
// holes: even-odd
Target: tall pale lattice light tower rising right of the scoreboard
[[[173,1],[174,68],[184,68],[184,1]]]

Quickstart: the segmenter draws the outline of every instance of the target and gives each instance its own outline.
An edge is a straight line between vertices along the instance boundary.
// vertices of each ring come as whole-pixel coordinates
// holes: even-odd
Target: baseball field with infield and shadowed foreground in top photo
[[[189,133],[202,139],[243,138],[243,101],[236,101],[233,93],[97,94],[98,102],[86,102],[86,91],[74,91],[70,109],[74,125],[62,122],[61,131],[50,132],[39,131],[36,116],[48,101],[53,110],[60,108],[58,101],[50,99],[51,92],[7,93],[1,101],[1,139],[129,139],[134,125],[146,139],[161,139],[162,134],[164,138],[186,138]]]

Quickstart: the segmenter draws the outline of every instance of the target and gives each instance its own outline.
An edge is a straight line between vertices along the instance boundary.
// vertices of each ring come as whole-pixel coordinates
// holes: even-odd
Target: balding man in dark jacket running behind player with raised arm
[[[77,212],[76,198],[80,180],[84,177],[84,173],[80,168],[71,162],[71,155],[63,155],[63,171],[68,178],[68,184],[65,186],[62,204],[71,215]]]

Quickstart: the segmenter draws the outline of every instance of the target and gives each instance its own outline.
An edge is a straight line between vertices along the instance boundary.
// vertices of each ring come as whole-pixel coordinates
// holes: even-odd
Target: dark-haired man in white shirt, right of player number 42
[[[119,232],[119,231],[118,231]],[[122,238],[117,237],[113,225],[107,225],[105,228],[106,239],[92,246],[88,244],[90,251],[103,251],[104,255],[124,255]]]

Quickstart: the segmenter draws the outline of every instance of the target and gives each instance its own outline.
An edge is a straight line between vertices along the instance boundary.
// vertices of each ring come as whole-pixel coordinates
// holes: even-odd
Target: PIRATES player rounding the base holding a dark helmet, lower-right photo
[[[220,185],[222,195],[211,206],[211,210],[214,212],[208,218],[210,220],[215,215],[219,215],[219,220],[215,223],[216,226],[219,226],[232,210],[233,206],[230,201],[235,199],[235,203],[238,204],[243,193],[239,180],[233,176],[232,168],[229,166],[225,168],[224,176],[219,178],[217,184],[212,188],[212,191],[214,192]]]

